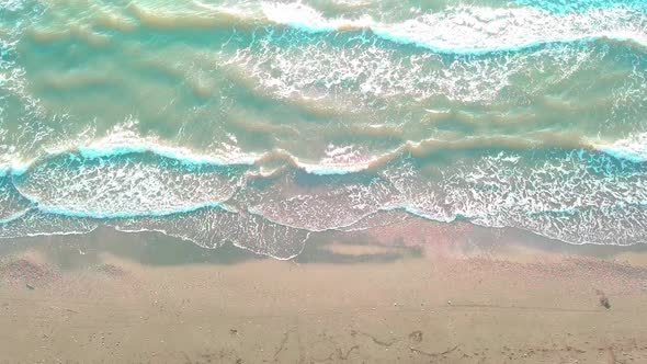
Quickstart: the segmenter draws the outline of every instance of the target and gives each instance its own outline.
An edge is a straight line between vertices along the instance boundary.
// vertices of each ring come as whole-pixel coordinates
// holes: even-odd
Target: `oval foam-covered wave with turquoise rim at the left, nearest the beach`
[[[12,181],[45,213],[92,218],[161,216],[218,206],[238,189],[243,168],[195,167],[148,153],[39,160]]]

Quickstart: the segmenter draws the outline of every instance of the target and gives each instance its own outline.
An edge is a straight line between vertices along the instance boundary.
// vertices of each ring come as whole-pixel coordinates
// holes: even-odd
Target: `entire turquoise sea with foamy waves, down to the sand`
[[[645,115],[646,1],[0,0],[0,237],[643,243]]]

